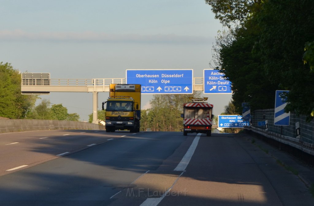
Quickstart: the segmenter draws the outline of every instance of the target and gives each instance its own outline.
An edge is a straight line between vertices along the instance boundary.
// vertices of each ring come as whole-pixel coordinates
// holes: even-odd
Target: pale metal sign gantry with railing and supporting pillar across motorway
[[[51,79],[49,73],[22,73],[21,92],[42,95],[50,92],[92,92],[93,123],[98,124],[98,92],[109,92],[110,84],[125,84],[126,78]],[[193,78],[193,91],[203,91],[203,77]]]

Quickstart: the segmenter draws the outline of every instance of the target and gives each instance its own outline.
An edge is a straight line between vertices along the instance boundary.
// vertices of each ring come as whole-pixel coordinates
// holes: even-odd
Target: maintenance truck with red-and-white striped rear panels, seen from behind
[[[187,133],[205,133],[206,136],[212,134],[212,119],[214,105],[209,104],[208,98],[190,98],[191,102],[183,104],[183,135]]]

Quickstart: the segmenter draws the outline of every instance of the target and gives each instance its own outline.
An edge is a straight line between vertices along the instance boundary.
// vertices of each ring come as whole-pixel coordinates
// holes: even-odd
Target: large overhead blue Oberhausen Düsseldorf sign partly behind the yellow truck
[[[128,69],[127,84],[141,84],[143,94],[192,94],[192,69]]]

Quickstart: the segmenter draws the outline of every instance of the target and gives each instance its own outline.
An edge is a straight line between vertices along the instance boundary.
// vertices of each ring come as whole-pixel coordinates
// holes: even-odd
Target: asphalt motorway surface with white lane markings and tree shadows
[[[314,205],[241,135],[46,130],[0,134],[0,205]]]

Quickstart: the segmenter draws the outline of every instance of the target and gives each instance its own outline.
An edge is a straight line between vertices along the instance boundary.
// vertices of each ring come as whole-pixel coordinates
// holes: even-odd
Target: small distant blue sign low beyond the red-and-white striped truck
[[[241,128],[248,125],[249,122],[243,121],[242,115],[218,115],[218,127],[220,128]]]

